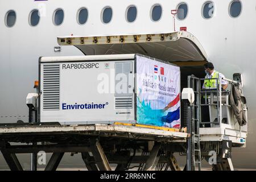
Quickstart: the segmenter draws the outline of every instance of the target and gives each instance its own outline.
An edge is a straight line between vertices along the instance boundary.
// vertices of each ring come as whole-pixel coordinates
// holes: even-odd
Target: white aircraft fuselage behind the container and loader
[[[232,0],[213,0],[213,17],[202,17],[205,0],[126,0],[126,1],[68,1],[68,0],[10,0],[0,2],[0,122],[28,121],[27,93],[35,92],[34,81],[38,80],[38,59],[40,56],[79,56],[82,52],[73,46],[63,46],[55,52],[58,36],[66,35],[127,35],[154,34],[174,31],[174,18],[171,10],[179,3],[188,6],[187,17],[175,18],[176,30],[187,27],[201,43],[208,55],[208,61],[225,77],[233,73],[243,75],[243,93],[247,98],[248,137],[246,148],[233,149],[235,167],[256,168],[256,79],[255,57],[256,1],[241,0],[242,10],[237,18],[229,14]],[[162,6],[162,16],[157,22],[150,18],[151,7]],[[137,18],[127,22],[126,10],[130,5],[137,7]],[[112,20],[106,24],[101,21],[102,9],[109,6],[113,10]],[[88,9],[85,24],[77,23],[77,12],[81,7]],[[37,26],[29,24],[29,14],[40,9]],[[64,10],[64,20],[59,26],[53,24],[53,12]],[[5,24],[6,13],[14,10],[16,21],[13,27]],[[253,81],[254,80],[254,81]]]

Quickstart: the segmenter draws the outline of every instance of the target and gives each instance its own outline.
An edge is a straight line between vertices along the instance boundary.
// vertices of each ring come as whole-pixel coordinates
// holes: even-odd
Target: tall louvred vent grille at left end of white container
[[[60,109],[60,65],[43,65],[43,110]]]

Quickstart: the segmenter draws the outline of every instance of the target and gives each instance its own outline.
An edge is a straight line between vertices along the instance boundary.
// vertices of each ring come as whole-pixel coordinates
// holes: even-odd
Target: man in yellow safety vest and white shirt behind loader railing
[[[220,80],[222,89],[225,90],[228,87],[228,81],[222,80],[222,78],[225,78],[225,76],[222,73],[215,71],[212,63],[205,63],[204,68],[205,73],[207,73],[205,78],[218,78],[218,82],[216,79],[204,80],[203,89],[216,89],[217,84],[220,83]]]

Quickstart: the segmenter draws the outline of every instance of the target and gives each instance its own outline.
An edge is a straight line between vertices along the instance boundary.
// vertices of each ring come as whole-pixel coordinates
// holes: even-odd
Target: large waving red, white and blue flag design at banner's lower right
[[[162,117],[162,121],[164,122],[164,126],[172,127],[172,128],[180,128],[180,94],[176,96],[176,98],[168,104],[168,108],[176,107],[176,110],[168,112],[167,115]]]

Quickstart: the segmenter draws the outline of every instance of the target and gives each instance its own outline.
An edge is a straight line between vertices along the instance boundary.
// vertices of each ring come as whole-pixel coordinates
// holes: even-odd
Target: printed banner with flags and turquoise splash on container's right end
[[[137,56],[137,123],[180,128],[180,68]]]

